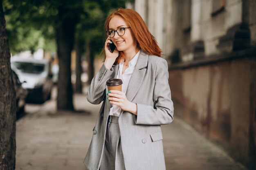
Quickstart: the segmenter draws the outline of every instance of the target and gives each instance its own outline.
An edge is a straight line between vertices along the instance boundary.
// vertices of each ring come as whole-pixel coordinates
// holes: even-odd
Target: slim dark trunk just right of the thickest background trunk
[[[82,66],[81,66],[81,42],[76,38],[75,42],[75,50],[76,50],[76,93],[82,93],[82,82],[81,82],[81,74],[82,74]]]

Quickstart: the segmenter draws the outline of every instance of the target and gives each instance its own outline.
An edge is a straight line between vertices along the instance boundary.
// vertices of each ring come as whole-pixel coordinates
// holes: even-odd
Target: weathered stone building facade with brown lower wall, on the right
[[[176,116],[249,169],[256,158],[256,1],[135,0],[169,63]]]

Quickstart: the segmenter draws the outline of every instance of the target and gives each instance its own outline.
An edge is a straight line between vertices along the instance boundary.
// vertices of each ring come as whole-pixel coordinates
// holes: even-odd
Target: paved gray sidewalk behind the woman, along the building
[[[86,111],[57,112],[54,100],[26,106],[29,113],[16,122],[16,170],[86,170],[83,159],[101,105],[85,95],[74,95],[74,105]],[[162,130],[166,170],[246,170],[177,117]]]

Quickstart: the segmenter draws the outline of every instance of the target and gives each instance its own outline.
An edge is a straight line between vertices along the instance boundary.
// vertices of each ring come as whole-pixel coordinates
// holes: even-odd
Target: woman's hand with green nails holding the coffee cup
[[[137,104],[134,104],[126,98],[126,95],[121,91],[112,90],[107,94],[111,104],[119,106],[122,110],[129,111],[137,115]]]

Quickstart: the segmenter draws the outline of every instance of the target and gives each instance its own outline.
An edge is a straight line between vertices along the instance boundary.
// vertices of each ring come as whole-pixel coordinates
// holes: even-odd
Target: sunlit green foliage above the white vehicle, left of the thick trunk
[[[57,11],[50,3],[35,3],[29,0],[4,0],[7,35],[11,53],[39,48],[56,51],[54,16]]]

